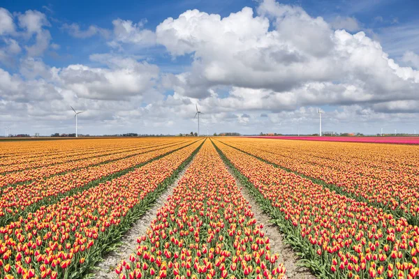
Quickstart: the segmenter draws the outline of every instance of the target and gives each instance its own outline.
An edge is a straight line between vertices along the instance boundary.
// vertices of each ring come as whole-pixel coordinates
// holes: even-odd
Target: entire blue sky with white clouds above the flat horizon
[[[419,132],[416,0],[2,4],[0,133]]]

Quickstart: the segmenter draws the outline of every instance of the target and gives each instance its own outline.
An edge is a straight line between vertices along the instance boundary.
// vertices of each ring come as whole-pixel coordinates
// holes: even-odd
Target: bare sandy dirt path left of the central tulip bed
[[[179,176],[177,177],[176,181],[172,183],[171,186],[169,186],[166,191],[159,197],[159,199],[154,202],[154,205],[152,206],[145,215],[143,215],[140,219],[138,219],[131,229],[122,236],[121,242],[122,245],[117,248],[117,250],[110,252],[108,255],[106,255],[103,259],[103,262],[100,262],[96,267],[96,271],[94,271],[94,276],[92,278],[97,279],[117,279],[117,273],[115,273],[115,267],[117,264],[119,264],[122,259],[128,259],[129,255],[131,253],[135,254],[135,250],[137,249],[138,243],[137,239],[138,236],[142,236],[147,231],[147,227],[149,227],[150,223],[152,223],[152,220],[156,217],[157,211],[163,206],[163,204],[167,201],[168,197],[172,195],[173,189],[177,186],[177,183],[182,178],[184,173],[186,172],[186,169],[189,168],[189,165],[191,165],[191,162],[189,162],[186,167],[182,170],[182,172],[179,173]]]

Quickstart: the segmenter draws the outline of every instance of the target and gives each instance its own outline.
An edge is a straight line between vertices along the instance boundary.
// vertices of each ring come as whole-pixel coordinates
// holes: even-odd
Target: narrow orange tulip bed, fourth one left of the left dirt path
[[[166,141],[169,143],[169,141]],[[164,143],[164,142],[163,142]],[[136,151],[139,149],[143,149],[145,147],[149,146],[155,146],[158,144],[162,144],[161,142],[147,142],[147,141],[138,141],[135,142],[135,144],[122,144],[120,146],[112,146],[112,147],[96,147],[94,149],[90,150],[79,150],[79,151],[71,151],[71,152],[64,152],[59,154],[54,154],[52,156],[42,156],[42,157],[36,157],[36,158],[27,158],[22,159],[19,161],[13,160],[13,164],[8,165],[0,165],[0,174],[5,174],[7,172],[17,172],[21,171],[23,169],[34,169],[38,167],[47,167],[52,165],[58,165],[62,163],[68,163],[70,161],[78,161],[83,159],[89,159],[93,157],[99,157],[99,156],[106,156],[106,155],[112,155],[115,153],[124,153],[129,151]]]

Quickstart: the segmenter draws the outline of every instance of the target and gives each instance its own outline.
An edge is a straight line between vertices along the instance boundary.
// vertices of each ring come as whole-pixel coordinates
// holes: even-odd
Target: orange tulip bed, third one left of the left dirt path
[[[45,167],[24,169],[22,172],[12,172],[8,174],[0,175],[0,188],[10,188],[16,186],[16,184],[28,183],[30,181],[38,181],[45,179],[49,176],[57,174],[64,174],[66,172],[75,171],[84,167],[99,165],[108,163],[113,160],[120,160],[122,158],[128,158],[138,156],[141,153],[145,153],[154,149],[164,148],[166,146],[175,146],[182,144],[185,140],[174,143],[166,142],[164,144],[143,146],[132,151],[112,153],[105,156],[93,156],[84,160],[69,161],[59,165],[47,165]],[[3,189],[1,189],[3,190]]]

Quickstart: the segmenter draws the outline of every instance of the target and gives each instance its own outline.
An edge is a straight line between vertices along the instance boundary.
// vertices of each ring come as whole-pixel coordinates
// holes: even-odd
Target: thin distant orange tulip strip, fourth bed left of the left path
[[[166,144],[173,144],[174,142],[168,141]],[[113,154],[118,153],[129,153],[129,152],[135,152],[139,151],[141,149],[145,149],[147,147],[153,147],[153,146],[159,146],[163,145],[163,143],[156,144],[155,142],[142,142],[141,144],[135,144],[130,146],[123,146],[123,147],[117,147],[113,146],[111,149],[103,149],[103,148],[96,148],[94,151],[79,151],[78,153],[66,153],[62,154],[57,157],[51,157],[51,156],[44,156],[43,158],[36,158],[33,162],[24,161],[20,163],[15,163],[13,165],[4,165],[0,167],[0,176],[3,176],[5,174],[9,173],[17,173],[22,172],[27,169],[33,169],[34,171],[36,169],[40,169],[42,167],[53,167],[53,166],[59,166],[64,163],[71,163],[71,162],[78,162],[81,160],[91,160],[93,158],[100,158],[103,156],[110,156]]]

